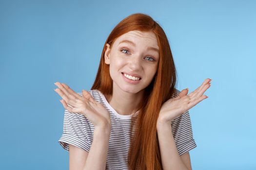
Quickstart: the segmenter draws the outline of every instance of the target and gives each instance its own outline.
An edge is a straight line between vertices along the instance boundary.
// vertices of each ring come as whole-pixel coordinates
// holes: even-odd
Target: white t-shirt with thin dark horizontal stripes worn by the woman
[[[131,138],[132,115],[120,115],[107,102],[105,96],[97,89],[88,91],[97,102],[102,103],[110,113],[111,133],[107,153],[106,170],[128,170],[128,152]],[[176,89],[173,97],[180,91]],[[78,93],[83,96],[82,93]],[[136,113],[137,114],[137,113]],[[135,115],[136,116],[136,115]],[[189,112],[183,113],[171,122],[172,134],[179,155],[189,152],[197,145],[193,138]],[[59,144],[67,151],[72,144],[89,152],[93,142],[94,125],[83,115],[64,112],[63,134]]]

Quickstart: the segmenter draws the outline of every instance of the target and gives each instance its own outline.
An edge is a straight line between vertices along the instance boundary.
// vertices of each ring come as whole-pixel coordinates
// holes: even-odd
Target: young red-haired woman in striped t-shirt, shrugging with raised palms
[[[55,83],[70,170],[191,170],[188,110],[207,98],[210,81],[177,90],[163,29],[145,14],[126,17],[108,36],[89,91]]]

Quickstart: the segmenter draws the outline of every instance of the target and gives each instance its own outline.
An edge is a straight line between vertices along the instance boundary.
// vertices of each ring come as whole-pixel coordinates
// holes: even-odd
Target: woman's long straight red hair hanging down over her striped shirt
[[[137,121],[133,121],[135,133],[131,137],[128,154],[130,170],[162,170],[161,156],[157,136],[157,119],[161,105],[175,92],[176,68],[166,34],[152,17],[136,13],[118,23],[109,34],[101,53],[97,77],[91,89],[112,95],[113,80],[109,65],[105,64],[106,44],[112,47],[115,40],[130,31],[152,31],[156,34],[159,47],[158,70],[151,84],[145,88],[144,98],[139,106]]]

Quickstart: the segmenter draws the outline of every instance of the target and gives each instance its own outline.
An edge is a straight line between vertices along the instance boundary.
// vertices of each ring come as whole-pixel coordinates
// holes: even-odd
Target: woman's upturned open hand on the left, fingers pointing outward
[[[99,102],[95,101],[90,93],[82,90],[81,97],[68,85],[56,82],[59,88],[54,89],[61,97],[60,102],[69,112],[79,113],[89,119],[96,128],[111,129],[111,119],[109,111]]]

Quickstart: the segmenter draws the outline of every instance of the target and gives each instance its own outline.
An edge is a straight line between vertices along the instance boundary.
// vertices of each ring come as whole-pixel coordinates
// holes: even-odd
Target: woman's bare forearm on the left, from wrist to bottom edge
[[[105,170],[110,130],[95,129],[92,146],[83,170]]]

